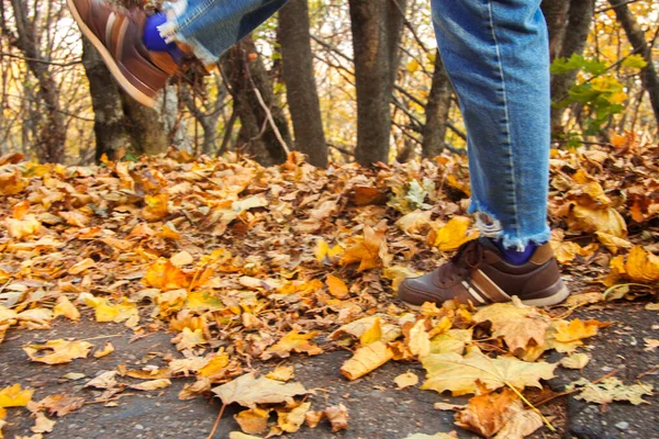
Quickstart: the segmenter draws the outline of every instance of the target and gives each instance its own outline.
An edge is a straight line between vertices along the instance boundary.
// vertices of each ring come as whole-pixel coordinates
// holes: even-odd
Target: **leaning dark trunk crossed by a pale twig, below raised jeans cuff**
[[[232,47],[228,55],[223,57],[222,65],[231,85],[234,108],[241,117],[239,147],[264,166],[282,164],[287,156],[281,140],[290,148],[291,135],[283,112],[275,102],[270,79],[252,37]],[[255,89],[260,93],[267,111]],[[268,120],[268,113],[275,121],[276,130]]]

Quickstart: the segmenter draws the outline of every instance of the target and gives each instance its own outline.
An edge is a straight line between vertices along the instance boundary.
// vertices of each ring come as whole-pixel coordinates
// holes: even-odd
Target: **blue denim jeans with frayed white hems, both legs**
[[[211,64],[284,3],[188,0],[161,32]],[[546,243],[549,48],[540,0],[431,3],[439,52],[467,126],[470,211],[478,213],[481,235],[501,238],[505,247]]]

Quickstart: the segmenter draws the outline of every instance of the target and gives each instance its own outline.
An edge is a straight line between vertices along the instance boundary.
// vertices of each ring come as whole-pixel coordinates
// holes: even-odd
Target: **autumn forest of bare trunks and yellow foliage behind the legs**
[[[543,10],[554,147],[608,144],[616,132],[656,139],[659,2],[546,0]],[[119,89],[65,0],[1,0],[0,26],[0,156],[89,165],[174,145],[266,166],[297,149],[325,167],[466,148],[427,0],[291,0],[210,76],[175,79],[155,110]]]

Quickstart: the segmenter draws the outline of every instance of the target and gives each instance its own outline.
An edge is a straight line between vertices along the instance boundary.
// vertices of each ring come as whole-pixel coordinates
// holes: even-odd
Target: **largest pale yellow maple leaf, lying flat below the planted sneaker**
[[[526,362],[513,357],[490,358],[478,348],[465,357],[457,353],[432,353],[422,359],[427,375],[421,386],[438,393],[450,391],[454,396],[476,393],[478,385],[493,391],[504,385],[524,389],[538,387],[539,380],[554,378],[556,364]]]

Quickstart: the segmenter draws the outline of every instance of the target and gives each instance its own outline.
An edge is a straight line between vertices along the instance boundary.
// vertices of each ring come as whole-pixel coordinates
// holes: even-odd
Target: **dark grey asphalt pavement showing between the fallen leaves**
[[[597,379],[614,369],[616,376],[630,384],[643,376],[644,382],[654,383],[659,389],[659,350],[644,351],[644,337],[659,338],[658,313],[645,311],[641,303],[615,303],[603,307],[595,306],[578,312],[574,316],[595,317],[616,323],[604,329],[603,336],[592,342],[590,353],[593,359],[583,373],[560,369],[560,376],[552,380],[551,386],[561,391],[567,382],[581,374],[591,380]],[[74,337],[76,339],[109,338],[115,351],[102,359],[75,360],[70,364],[48,367],[29,362],[21,346],[33,341]],[[101,371],[112,370],[118,364],[129,368],[144,364],[158,364],[158,354],[179,356],[170,344],[170,335],[156,334],[133,344],[129,342],[132,333],[121,325],[96,324],[89,320],[78,325],[58,323],[49,331],[12,331],[8,340],[0,345],[0,387],[21,383],[36,389],[34,399],[51,394],[66,393],[82,396],[88,401],[98,396],[98,392],[81,389],[86,380],[70,382],[62,375],[68,372],[82,372],[94,376]],[[104,339],[97,339],[102,345]],[[94,342],[94,341],[92,341]],[[434,392],[416,389],[398,391],[392,379],[411,370],[423,378],[421,365],[413,363],[389,363],[370,375],[348,383],[338,372],[347,352],[328,352],[313,358],[295,357],[295,380],[308,389],[316,389],[312,397],[313,409],[323,409],[327,405],[345,404],[350,414],[350,427],[346,432],[334,435],[326,424],[316,429],[303,427],[293,438],[382,438],[403,439],[413,432],[435,434],[455,429],[453,413],[438,412],[433,403],[438,401],[463,403],[465,399],[448,398]],[[557,359],[557,358],[556,358]],[[550,358],[551,360],[551,358]],[[264,368],[266,370],[267,368]],[[75,438],[204,438],[212,428],[220,404],[217,401],[197,398],[179,401],[177,394],[186,383],[176,380],[171,387],[161,392],[134,392],[120,398],[116,407],[87,404],[58,419],[48,439]],[[124,392],[132,393],[132,392]],[[559,398],[551,407],[558,414],[555,424],[563,435],[551,435],[547,429],[538,431],[536,438],[644,438],[659,439],[659,402],[656,396],[647,398],[651,404],[630,406],[611,404],[602,413],[600,406],[587,405],[571,397]],[[233,419],[237,407],[226,410],[214,438],[227,438],[228,432],[237,430]],[[33,419],[23,408],[8,410],[5,437],[30,435]],[[626,424],[621,424],[626,423]],[[617,425],[617,427],[616,427]],[[473,438],[470,432],[460,430],[460,438]]]

